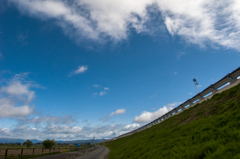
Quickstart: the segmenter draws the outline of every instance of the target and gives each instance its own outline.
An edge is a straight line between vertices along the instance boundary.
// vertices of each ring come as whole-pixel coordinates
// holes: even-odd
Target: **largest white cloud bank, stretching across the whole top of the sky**
[[[51,19],[79,41],[87,38],[127,39],[137,33],[161,31],[204,47],[220,45],[240,51],[239,0],[10,0],[21,12]],[[152,20],[161,14],[161,20]],[[158,27],[153,27],[153,25]],[[161,34],[160,33],[160,34]]]

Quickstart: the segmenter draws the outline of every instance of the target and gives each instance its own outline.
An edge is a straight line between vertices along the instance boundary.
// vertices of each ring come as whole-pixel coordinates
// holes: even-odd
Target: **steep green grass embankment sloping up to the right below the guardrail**
[[[240,84],[105,146],[109,159],[239,159]]]

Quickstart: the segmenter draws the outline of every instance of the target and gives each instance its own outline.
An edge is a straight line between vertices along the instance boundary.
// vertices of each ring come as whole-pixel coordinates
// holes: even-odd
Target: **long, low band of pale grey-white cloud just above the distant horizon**
[[[69,125],[47,125],[43,127],[18,126],[13,129],[0,128],[3,138],[21,139],[55,139],[55,140],[77,140],[99,138],[112,138],[113,133],[119,134],[122,125],[102,125],[95,127],[81,127]]]

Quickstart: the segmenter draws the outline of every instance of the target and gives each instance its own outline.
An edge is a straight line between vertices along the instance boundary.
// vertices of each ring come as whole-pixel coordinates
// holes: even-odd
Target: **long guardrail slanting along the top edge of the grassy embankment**
[[[210,99],[210,98],[212,98],[212,96],[214,94],[221,93],[221,92],[223,92],[223,91],[225,91],[225,90],[227,90],[227,89],[229,89],[233,86],[236,86],[239,83],[240,83],[240,67],[238,67],[232,73],[229,73],[228,75],[223,77],[221,80],[219,80],[215,84],[210,85],[208,88],[206,88],[202,92],[198,93],[197,95],[195,95],[191,99],[188,99],[187,101],[185,101],[184,103],[182,103],[178,107],[169,111],[168,113],[162,115],[161,117],[153,120],[152,122],[138,128],[136,130],[133,130],[131,132],[128,132],[126,134],[118,136],[118,137],[116,137],[116,139],[132,135],[134,133],[137,133],[139,131],[147,129],[147,128],[151,127],[152,125],[161,123],[162,121],[170,118],[171,116],[179,114],[179,113],[183,112],[184,110],[186,110],[190,107],[193,107],[194,105],[196,105],[198,103],[201,103],[201,102],[203,102],[207,99]]]

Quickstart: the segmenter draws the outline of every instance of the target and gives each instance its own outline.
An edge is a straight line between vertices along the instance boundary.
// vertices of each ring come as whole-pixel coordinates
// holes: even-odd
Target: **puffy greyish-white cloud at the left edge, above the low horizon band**
[[[0,118],[29,116],[34,112],[34,107],[29,106],[35,97],[35,92],[30,90],[34,84],[25,81],[27,75],[16,74],[0,88]]]

